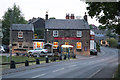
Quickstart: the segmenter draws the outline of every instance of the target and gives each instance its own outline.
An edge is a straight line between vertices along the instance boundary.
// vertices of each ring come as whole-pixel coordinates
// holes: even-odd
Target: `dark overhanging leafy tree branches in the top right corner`
[[[120,35],[120,2],[86,2],[91,18],[96,17],[101,29],[113,29]]]

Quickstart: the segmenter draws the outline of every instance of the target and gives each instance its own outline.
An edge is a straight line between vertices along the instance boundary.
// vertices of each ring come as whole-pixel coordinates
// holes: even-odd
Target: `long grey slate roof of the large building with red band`
[[[45,23],[46,29],[90,29],[83,19],[49,19]]]

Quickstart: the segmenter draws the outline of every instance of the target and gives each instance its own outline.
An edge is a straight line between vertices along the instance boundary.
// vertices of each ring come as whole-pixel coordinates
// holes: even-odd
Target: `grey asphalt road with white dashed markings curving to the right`
[[[3,78],[112,78],[118,49],[101,47],[98,56],[40,64],[39,68],[3,75]]]

